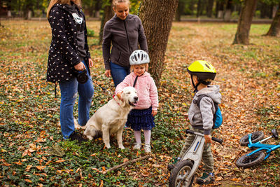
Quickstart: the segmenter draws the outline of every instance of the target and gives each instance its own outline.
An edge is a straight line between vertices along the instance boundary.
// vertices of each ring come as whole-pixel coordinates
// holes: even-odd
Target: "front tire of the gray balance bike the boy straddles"
[[[192,177],[189,183],[186,183],[184,179],[180,179],[180,176],[183,176],[186,173],[190,173],[192,168],[193,162],[191,162],[190,160],[183,160],[176,163],[174,169],[172,170],[172,173],[170,174],[169,187],[192,186],[195,175]]]

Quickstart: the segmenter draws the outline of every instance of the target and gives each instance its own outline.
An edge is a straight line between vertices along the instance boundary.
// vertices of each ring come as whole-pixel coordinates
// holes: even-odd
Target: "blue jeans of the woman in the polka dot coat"
[[[85,64],[84,61],[83,63]],[[78,123],[83,126],[87,123],[87,120],[90,119],[90,104],[94,94],[94,87],[88,69],[87,76],[89,78],[84,84],[78,83],[76,78],[72,78],[70,81],[59,82],[61,92],[60,125],[64,139],[69,139],[69,136],[75,130],[73,121],[73,106],[75,104],[77,92],[79,94]]]

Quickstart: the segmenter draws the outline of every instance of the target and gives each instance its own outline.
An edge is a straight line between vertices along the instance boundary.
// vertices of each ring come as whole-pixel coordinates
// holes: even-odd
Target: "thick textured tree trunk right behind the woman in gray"
[[[143,0],[139,10],[150,56],[149,72],[159,85],[165,64],[165,50],[178,0]]]

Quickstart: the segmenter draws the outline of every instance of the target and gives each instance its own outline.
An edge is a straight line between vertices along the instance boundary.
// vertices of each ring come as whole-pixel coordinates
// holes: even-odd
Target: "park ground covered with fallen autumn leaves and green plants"
[[[239,139],[249,132],[279,130],[280,39],[262,36],[269,25],[252,25],[251,45],[232,46],[236,24],[174,23],[167,46],[165,72],[159,88],[160,111],[152,132],[151,158],[108,174],[102,172],[144,156],[132,149],[130,129],[123,133],[125,150],[104,148],[102,139],[83,144],[62,140],[59,91],[45,82],[50,27],[48,22],[1,21],[0,28],[0,181],[8,186],[168,186],[167,164],[179,155],[188,128],[188,106],[193,95],[188,65],[208,60],[216,67],[215,84],[223,95],[223,126],[214,136],[216,181],[214,186],[279,186],[279,150],[257,167],[238,169],[235,161],[248,152]],[[104,76],[102,48],[97,46],[99,22],[87,22],[95,32],[90,51],[95,85],[91,115],[113,94],[113,83]],[[57,88],[59,90],[59,88]],[[75,106],[77,118],[77,107]],[[280,130],[279,130],[280,131]],[[279,144],[271,140],[270,144]],[[55,154],[53,148],[61,148]],[[64,154],[63,154],[64,152]],[[202,172],[202,167],[200,171]]]

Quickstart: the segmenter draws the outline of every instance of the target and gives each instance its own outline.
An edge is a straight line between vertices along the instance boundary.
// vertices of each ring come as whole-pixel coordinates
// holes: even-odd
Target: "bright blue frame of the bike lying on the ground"
[[[265,159],[267,159],[272,151],[274,151],[277,148],[280,148],[280,144],[278,144],[278,145],[261,144],[262,141],[266,141],[267,139],[271,139],[271,138],[272,138],[272,136],[267,137],[266,139],[262,139],[262,140],[258,141],[257,143],[252,143],[252,134],[248,134],[248,140],[249,140],[248,147],[249,148],[255,147],[258,149],[256,149],[255,151],[252,151],[251,153],[248,153],[247,155],[250,156],[250,155],[253,155],[254,153],[257,153],[258,151],[265,150],[267,153],[267,155],[265,156]]]

